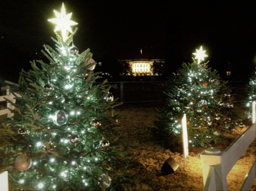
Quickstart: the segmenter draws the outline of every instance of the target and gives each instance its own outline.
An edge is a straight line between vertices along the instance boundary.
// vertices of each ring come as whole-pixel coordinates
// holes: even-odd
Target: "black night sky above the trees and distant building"
[[[256,3],[193,1],[3,1],[0,0],[0,77],[17,79],[29,61],[42,59],[43,44],[54,47],[53,10],[72,12],[78,32],[74,44],[90,48],[95,61],[165,59],[179,68],[193,62],[203,46],[209,67],[225,78],[228,63],[233,80],[248,80],[255,70]],[[140,55],[142,49],[143,55]],[[36,54],[37,53],[37,54]]]

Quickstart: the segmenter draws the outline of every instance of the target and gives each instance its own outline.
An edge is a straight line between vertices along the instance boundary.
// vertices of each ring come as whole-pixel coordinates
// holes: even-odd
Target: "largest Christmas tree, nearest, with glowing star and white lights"
[[[115,100],[106,81],[95,84],[89,49],[70,46],[71,13],[64,4],[54,12],[49,21],[62,36],[55,33],[55,49],[44,45],[49,64],[33,61],[18,84],[9,82],[19,91],[14,116],[0,129],[0,172],[9,171],[11,191],[108,190],[122,154],[114,147]]]

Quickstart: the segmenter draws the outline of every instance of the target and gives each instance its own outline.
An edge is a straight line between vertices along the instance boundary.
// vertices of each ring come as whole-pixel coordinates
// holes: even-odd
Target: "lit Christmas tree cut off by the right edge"
[[[246,113],[248,119],[252,118],[252,102],[256,101],[256,72],[254,71],[249,79],[249,85],[246,85],[246,94],[248,95],[244,99],[244,107],[246,108]]]

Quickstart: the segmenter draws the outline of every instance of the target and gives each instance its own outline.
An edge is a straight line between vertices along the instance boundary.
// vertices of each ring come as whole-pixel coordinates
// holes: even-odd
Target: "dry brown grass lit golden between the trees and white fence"
[[[189,149],[189,157],[186,160],[186,168],[184,168],[183,150],[179,153],[172,153],[169,149],[164,149],[159,146],[153,139],[149,127],[154,126],[154,120],[157,119],[157,105],[147,104],[132,106],[122,105],[117,108],[120,116],[120,131],[123,134],[121,147],[128,153],[134,154],[134,160],[141,164],[140,167],[129,170],[132,175],[133,183],[126,187],[125,190],[136,191],[191,191],[203,189],[202,163],[200,154],[203,147],[193,147]],[[238,108],[240,109],[240,108]],[[241,111],[241,109],[239,110]],[[241,112],[243,113],[243,112]],[[249,124],[248,124],[249,125]],[[232,134],[225,135],[224,139],[214,145],[222,151],[240,136],[244,130],[238,128]],[[256,156],[256,141],[252,142],[250,147],[245,151],[240,160],[237,161],[234,168],[227,176],[229,191],[240,189],[245,175],[250,170],[250,167]],[[167,176],[157,176],[162,164],[169,157],[180,165],[178,169]],[[256,190],[256,182],[251,190]]]

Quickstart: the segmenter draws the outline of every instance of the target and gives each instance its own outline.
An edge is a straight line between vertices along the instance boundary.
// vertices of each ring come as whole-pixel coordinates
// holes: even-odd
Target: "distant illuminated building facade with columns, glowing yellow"
[[[162,62],[162,59],[133,59],[133,60],[119,60],[119,62],[127,62],[132,67],[133,76],[151,76],[151,67],[154,62]]]

